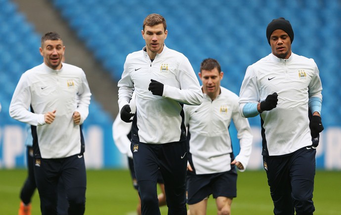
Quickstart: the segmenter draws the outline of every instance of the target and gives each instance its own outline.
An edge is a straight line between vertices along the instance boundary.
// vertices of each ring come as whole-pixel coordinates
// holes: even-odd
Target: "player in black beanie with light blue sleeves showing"
[[[240,113],[260,114],[274,214],[312,215],[317,146],[312,138],[323,130],[319,70],[313,59],[292,52],[294,32],[288,20],[272,20],[266,37],[272,53],[248,67],[240,89]]]

